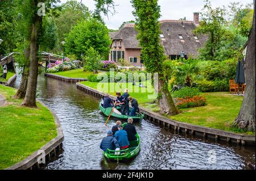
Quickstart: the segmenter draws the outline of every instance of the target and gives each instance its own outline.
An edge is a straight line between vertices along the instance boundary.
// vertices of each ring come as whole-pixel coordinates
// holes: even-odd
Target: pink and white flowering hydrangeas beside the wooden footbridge
[[[55,73],[57,71],[67,71],[72,69],[79,69],[81,68],[81,61],[74,60],[70,61],[69,58],[65,58],[66,61],[56,61],[55,63],[50,63],[47,66],[47,73]]]

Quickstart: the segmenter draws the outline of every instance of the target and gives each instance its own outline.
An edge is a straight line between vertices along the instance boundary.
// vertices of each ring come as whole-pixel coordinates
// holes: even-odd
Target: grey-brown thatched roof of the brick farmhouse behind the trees
[[[202,47],[207,36],[197,37],[195,39],[193,30],[195,30],[196,24],[193,21],[181,21],[181,20],[162,20],[160,21],[160,29],[162,31],[162,44],[166,54],[180,54],[185,52],[187,55],[197,56],[197,48]],[[113,36],[113,40],[122,40],[125,48],[140,48],[139,41],[137,40],[138,32],[134,28],[134,23],[125,24],[116,34]],[[183,40],[179,38],[182,35]]]

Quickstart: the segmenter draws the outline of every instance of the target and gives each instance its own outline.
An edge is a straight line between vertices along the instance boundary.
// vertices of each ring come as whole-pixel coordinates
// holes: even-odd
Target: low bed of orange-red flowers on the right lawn
[[[204,96],[195,95],[192,98],[186,96],[185,98],[174,99],[175,104],[180,109],[189,107],[205,106],[206,98]]]

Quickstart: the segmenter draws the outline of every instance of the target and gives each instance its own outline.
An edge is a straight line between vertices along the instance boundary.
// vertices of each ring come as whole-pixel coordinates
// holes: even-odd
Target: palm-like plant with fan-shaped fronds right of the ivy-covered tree
[[[176,83],[191,87],[193,79],[199,73],[199,67],[196,63],[183,64],[176,69]]]

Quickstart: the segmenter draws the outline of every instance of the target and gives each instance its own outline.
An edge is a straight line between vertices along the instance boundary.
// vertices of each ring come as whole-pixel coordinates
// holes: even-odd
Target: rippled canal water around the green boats
[[[20,75],[14,83],[18,88]],[[100,142],[116,120],[98,110],[99,100],[78,90],[75,84],[38,78],[37,97],[59,117],[64,132],[63,153],[46,169],[249,169],[255,164],[255,148],[219,144],[180,136],[142,120],[135,124],[141,151],[132,161],[107,161]]]

